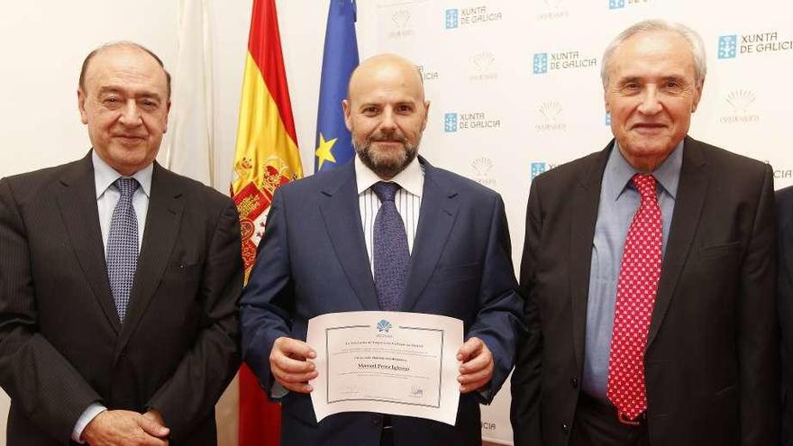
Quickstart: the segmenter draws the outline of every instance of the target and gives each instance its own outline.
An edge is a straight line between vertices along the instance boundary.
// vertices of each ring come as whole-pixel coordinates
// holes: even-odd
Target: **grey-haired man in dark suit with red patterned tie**
[[[615,139],[529,196],[515,444],[775,444],[770,166],[687,136],[696,32],[637,23],[601,69]]]

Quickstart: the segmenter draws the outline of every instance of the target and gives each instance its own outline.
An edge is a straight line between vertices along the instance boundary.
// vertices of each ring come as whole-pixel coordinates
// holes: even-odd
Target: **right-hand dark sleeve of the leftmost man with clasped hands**
[[[192,348],[166,383],[151,397],[174,441],[212,414],[239,365],[237,305],[242,290],[240,221],[231,200],[210,238],[199,296],[201,329]]]

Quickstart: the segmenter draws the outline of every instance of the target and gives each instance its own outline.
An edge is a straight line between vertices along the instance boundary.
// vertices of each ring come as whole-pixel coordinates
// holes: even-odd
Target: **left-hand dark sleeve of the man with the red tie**
[[[521,259],[520,287],[524,296],[524,320],[528,332],[518,343],[515,372],[512,375],[510,421],[515,446],[542,444],[540,394],[542,378],[542,332],[537,304],[537,254],[542,249],[542,206],[540,181],[535,180],[526,210],[526,236]]]

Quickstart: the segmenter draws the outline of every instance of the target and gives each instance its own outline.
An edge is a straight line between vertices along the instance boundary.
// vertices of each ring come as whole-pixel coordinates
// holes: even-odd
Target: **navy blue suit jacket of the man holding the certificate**
[[[400,310],[461,319],[495,359],[490,397],[512,368],[521,301],[500,196],[424,159],[424,195]],[[280,187],[242,295],[243,359],[271,390],[269,351],[280,336],[305,340],[319,314],[379,310],[363,238],[352,162]],[[377,445],[382,415],[336,414],[316,423],[309,396],[283,398],[285,445]],[[460,397],[457,425],[393,418],[396,445],[481,442],[479,401]]]

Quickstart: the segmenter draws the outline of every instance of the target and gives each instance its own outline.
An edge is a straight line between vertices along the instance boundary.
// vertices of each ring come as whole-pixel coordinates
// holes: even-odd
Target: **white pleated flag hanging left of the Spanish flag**
[[[214,186],[212,50],[206,0],[180,0],[177,65],[160,164]]]

